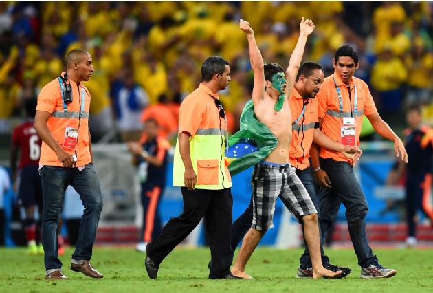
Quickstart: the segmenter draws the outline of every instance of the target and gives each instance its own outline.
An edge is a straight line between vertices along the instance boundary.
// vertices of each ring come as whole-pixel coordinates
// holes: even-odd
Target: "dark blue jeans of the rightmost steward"
[[[320,158],[320,166],[328,174],[332,186],[331,188],[320,186],[318,191],[322,239],[326,239],[326,233],[337,216],[340,204],[343,203],[358,264],[366,268],[377,263],[377,257],[368,245],[366,235],[365,217],[368,213],[368,205],[364,192],[353,173],[353,167],[348,162],[323,158]]]

